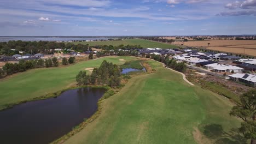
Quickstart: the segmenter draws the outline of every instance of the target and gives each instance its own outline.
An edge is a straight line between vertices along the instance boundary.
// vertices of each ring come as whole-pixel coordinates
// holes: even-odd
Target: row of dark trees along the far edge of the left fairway
[[[67,58],[63,58],[67,59]],[[63,59],[62,59],[62,64],[63,64]],[[67,62],[63,65],[67,65],[68,63],[74,63],[75,58],[74,57],[69,57]],[[59,67],[59,62],[56,57],[54,58],[49,58],[49,59],[34,59],[34,60],[29,60],[25,61],[24,59],[21,59],[19,63],[5,63],[3,68],[0,68],[0,78],[7,76],[7,75],[12,75],[15,73],[20,73],[23,71],[26,71],[28,69],[35,69],[35,68],[49,68],[49,67]]]

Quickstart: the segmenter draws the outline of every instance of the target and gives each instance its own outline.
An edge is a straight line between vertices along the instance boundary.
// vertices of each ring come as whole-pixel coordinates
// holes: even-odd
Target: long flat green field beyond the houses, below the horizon
[[[90,46],[96,46],[96,45],[113,45],[113,46],[119,46],[119,45],[140,45],[144,48],[147,47],[159,47],[162,49],[173,49],[177,48],[179,46],[171,45],[171,44],[165,44],[165,43],[158,43],[155,41],[149,41],[149,40],[143,40],[143,39],[126,39],[126,40],[112,40],[112,41],[89,41],[89,42],[73,42],[73,44],[89,44]]]

